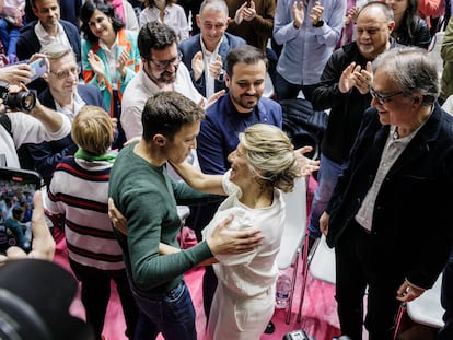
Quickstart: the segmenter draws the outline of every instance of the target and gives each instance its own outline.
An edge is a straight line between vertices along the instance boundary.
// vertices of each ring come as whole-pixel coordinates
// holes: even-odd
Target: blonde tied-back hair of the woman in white
[[[294,187],[301,166],[287,133],[266,124],[255,124],[239,134],[251,169],[265,185],[284,192]]]

